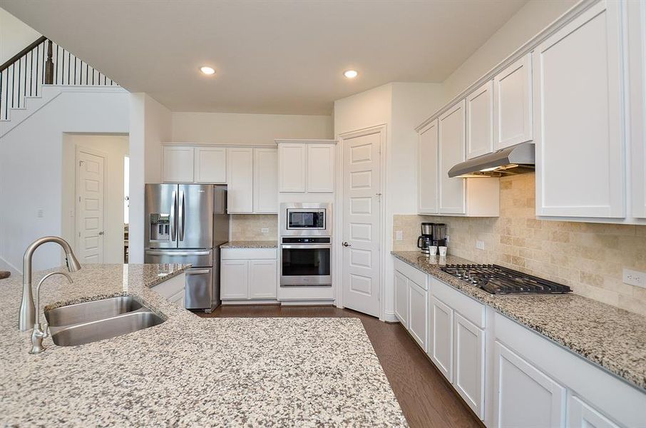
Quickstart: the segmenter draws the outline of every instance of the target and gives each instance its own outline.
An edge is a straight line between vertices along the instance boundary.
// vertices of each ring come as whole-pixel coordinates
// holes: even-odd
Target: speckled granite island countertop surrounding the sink
[[[165,266],[165,267],[164,267]],[[150,285],[171,265],[83,265],[41,301],[133,295],[163,324],[29,355],[21,279],[0,281],[2,426],[406,426],[356,318],[200,318]],[[34,274],[40,280],[45,272]]]

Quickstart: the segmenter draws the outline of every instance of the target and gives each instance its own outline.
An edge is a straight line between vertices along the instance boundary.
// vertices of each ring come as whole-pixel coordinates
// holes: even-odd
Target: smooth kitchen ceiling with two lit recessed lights
[[[172,111],[329,114],[391,81],[441,82],[525,0],[3,0]],[[202,65],[215,68],[204,76]],[[344,78],[354,68],[359,76]]]

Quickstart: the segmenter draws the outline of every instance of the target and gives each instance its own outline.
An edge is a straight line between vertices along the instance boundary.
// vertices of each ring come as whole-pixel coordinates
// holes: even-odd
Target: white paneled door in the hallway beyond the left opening
[[[81,263],[103,263],[106,157],[79,148],[76,160],[76,255]]]

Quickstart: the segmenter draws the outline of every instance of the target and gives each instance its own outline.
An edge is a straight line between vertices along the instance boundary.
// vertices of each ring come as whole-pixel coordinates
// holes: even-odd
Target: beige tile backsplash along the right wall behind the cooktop
[[[476,263],[497,263],[574,292],[646,315],[646,289],[622,282],[622,269],[646,271],[646,225],[536,220],[534,174],[501,179],[498,218],[394,215],[393,249],[416,250],[419,223],[448,225],[448,253]],[[404,233],[397,241],[396,231]],[[476,249],[476,240],[485,250]]]

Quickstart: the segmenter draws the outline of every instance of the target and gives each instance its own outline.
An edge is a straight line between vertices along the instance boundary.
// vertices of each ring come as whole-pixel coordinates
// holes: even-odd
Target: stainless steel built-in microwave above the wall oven
[[[281,236],[332,236],[332,204],[280,204]]]

